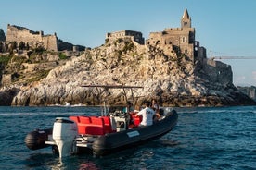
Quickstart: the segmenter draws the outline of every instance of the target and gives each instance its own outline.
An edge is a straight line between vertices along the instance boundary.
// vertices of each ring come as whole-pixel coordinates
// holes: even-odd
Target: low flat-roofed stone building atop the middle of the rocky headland
[[[142,33],[139,31],[121,30],[106,34],[106,39],[118,39],[125,37],[132,38],[134,42],[138,42],[139,44],[144,44],[144,38],[142,37]]]

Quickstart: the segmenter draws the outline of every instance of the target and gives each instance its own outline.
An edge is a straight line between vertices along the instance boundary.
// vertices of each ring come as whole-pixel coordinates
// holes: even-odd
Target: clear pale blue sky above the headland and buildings
[[[7,24],[57,33],[64,42],[100,46],[107,32],[150,32],[179,28],[187,9],[196,29],[196,40],[208,57],[231,65],[233,82],[256,86],[255,0],[0,0],[0,29]]]

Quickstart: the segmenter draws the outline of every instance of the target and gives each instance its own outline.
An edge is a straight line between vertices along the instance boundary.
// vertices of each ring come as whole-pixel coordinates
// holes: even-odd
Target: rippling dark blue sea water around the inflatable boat
[[[95,158],[61,162],[51,148],[30,151],[26,134],[55,117],[98,115],[97,107],[0,107],[0,169],[256,169],[256,107],[177,108],[177,126],[159,140]]]

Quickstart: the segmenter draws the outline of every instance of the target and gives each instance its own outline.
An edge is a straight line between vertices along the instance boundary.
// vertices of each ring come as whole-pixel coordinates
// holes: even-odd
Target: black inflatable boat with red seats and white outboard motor
[[[102,156],[160,138],[174,128],[177,119],[175,110],[161,115],[153,125],[143,127],[139,126],[141,117],[136,117],[134,112],[57,117],[52,129],[28,133],[25,143],[31,150],[52,146],[60,158],[81,152]]]

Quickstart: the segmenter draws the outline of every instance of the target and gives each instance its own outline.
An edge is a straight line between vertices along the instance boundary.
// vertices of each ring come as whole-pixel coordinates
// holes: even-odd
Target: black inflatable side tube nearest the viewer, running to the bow
[[[164,119],[157,121],[152,126],[139,127],[101,136],[94,142],[93,152],[96,156],[102,156],[158,139],[171,131],[176,125],[177,120],[178,115],[173,110]]]

